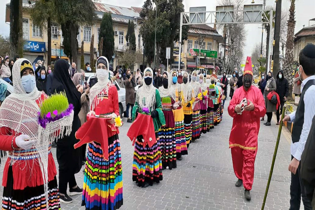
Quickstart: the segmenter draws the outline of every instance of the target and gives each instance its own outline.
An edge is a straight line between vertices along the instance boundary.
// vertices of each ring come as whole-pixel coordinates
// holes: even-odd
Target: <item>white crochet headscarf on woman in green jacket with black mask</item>
[[[146,72],[151,73],[152,82],[150,85],[146,85],[144,82],[144,77]],[[140,87],[137,91],[136,95],[136,102],[138,103],[139,107],[142,109],[143,107],[149,108],[150,111],[154,110],[154,104],[156,101],[155,91],[156,88],[153,86],[153,71],[151,68],[146,68],[143,72],[143,78],[142,78],[143,86]]]

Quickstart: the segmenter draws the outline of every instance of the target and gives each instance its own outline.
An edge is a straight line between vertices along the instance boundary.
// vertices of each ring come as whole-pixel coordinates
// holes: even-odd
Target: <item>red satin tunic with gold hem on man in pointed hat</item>
[[[235,106],[244,98],[254,104],[253,111],[243,111],[241,115],[235,113]],[[260,89],[251,86],[247,91],[244,87],[238,88],[227,108],[233,117],[233,126],[230,134],[230,148],[240,147],[245,150],[257,150],[260,117],[265,116],[265,101]]]

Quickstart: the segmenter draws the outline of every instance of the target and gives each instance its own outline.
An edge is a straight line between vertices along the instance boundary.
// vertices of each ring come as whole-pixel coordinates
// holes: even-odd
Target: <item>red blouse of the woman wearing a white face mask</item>
[[[105,91],[105,88],[102,90]],[[98,94],[97,97],[100,97],[101,94]],[[95,104],[97,97],[94,98]],[[118,105],[118,92],[117,88],[114,84],[110,84],[108,87],[108,94],[104,94],[103,99],[99,99],[99,104],[95,106],[99,108],[100,114],[112,114],[115,112],[117,116],[119,116],[119,105]],[[95,111],[95,110],[93,110]],[[118,134],[119,130],[114,125],[107,127],[107,134],[109,137]]]

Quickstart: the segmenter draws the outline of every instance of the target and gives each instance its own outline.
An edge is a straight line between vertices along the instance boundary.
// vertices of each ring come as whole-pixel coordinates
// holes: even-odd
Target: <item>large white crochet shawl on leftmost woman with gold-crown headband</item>
[[[41,172],[35,171],[35,173],[42,173],[44,182],[44,192],[46,196],[46,202],[48,201],[48,146],[54,139],[62,138],[63,135],[69,135],[71,133],[73,111],[70,116],[61,118],[60,120],[50,122],[46,128],[42,128],[38,124],[38,112],[40,111],[36,100],[41,101],[42,93],[39,92],[34,86],[31,93],[26,93],[21,81],[21,64],[27,59],[21,58],[17,60],[12,68],[14,93],[9,95],[2,103],[0,107],[0,127],[7,127],[15,131],[15,135],[25,134],[30,137],[31,140],[35,140],[32,149],[38,152],[38,164],[41,168]],[[31,63],[31,62],[29,62]],[[35,77],[35,75],[34,75]],[[34,78],[35,80],[35,78]],[[59,131],[56,136],[56,131]],[[11,156],[20,156],[19,151],[22,149],[9,151]],[[7,155],[5,155],[7,156]],[[11,159],[11,164],[14,164]],[[4,162],[3,162],[4,163]],[[3,164],[4,165],[4,164]],[[32,167],[32,166],[28,166]],[[47,205],[48,203],[46,203]]]

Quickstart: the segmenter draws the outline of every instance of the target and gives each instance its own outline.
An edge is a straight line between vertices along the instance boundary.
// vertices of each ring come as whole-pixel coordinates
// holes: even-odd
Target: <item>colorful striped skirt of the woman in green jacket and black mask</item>
[[[163,180],[160,140],[156,133],[157,143],[152,147],[143,147],[142,135],[135,141],[134,161],[132,163],[132,181],[139,187],[145,183],[153,185]]]

